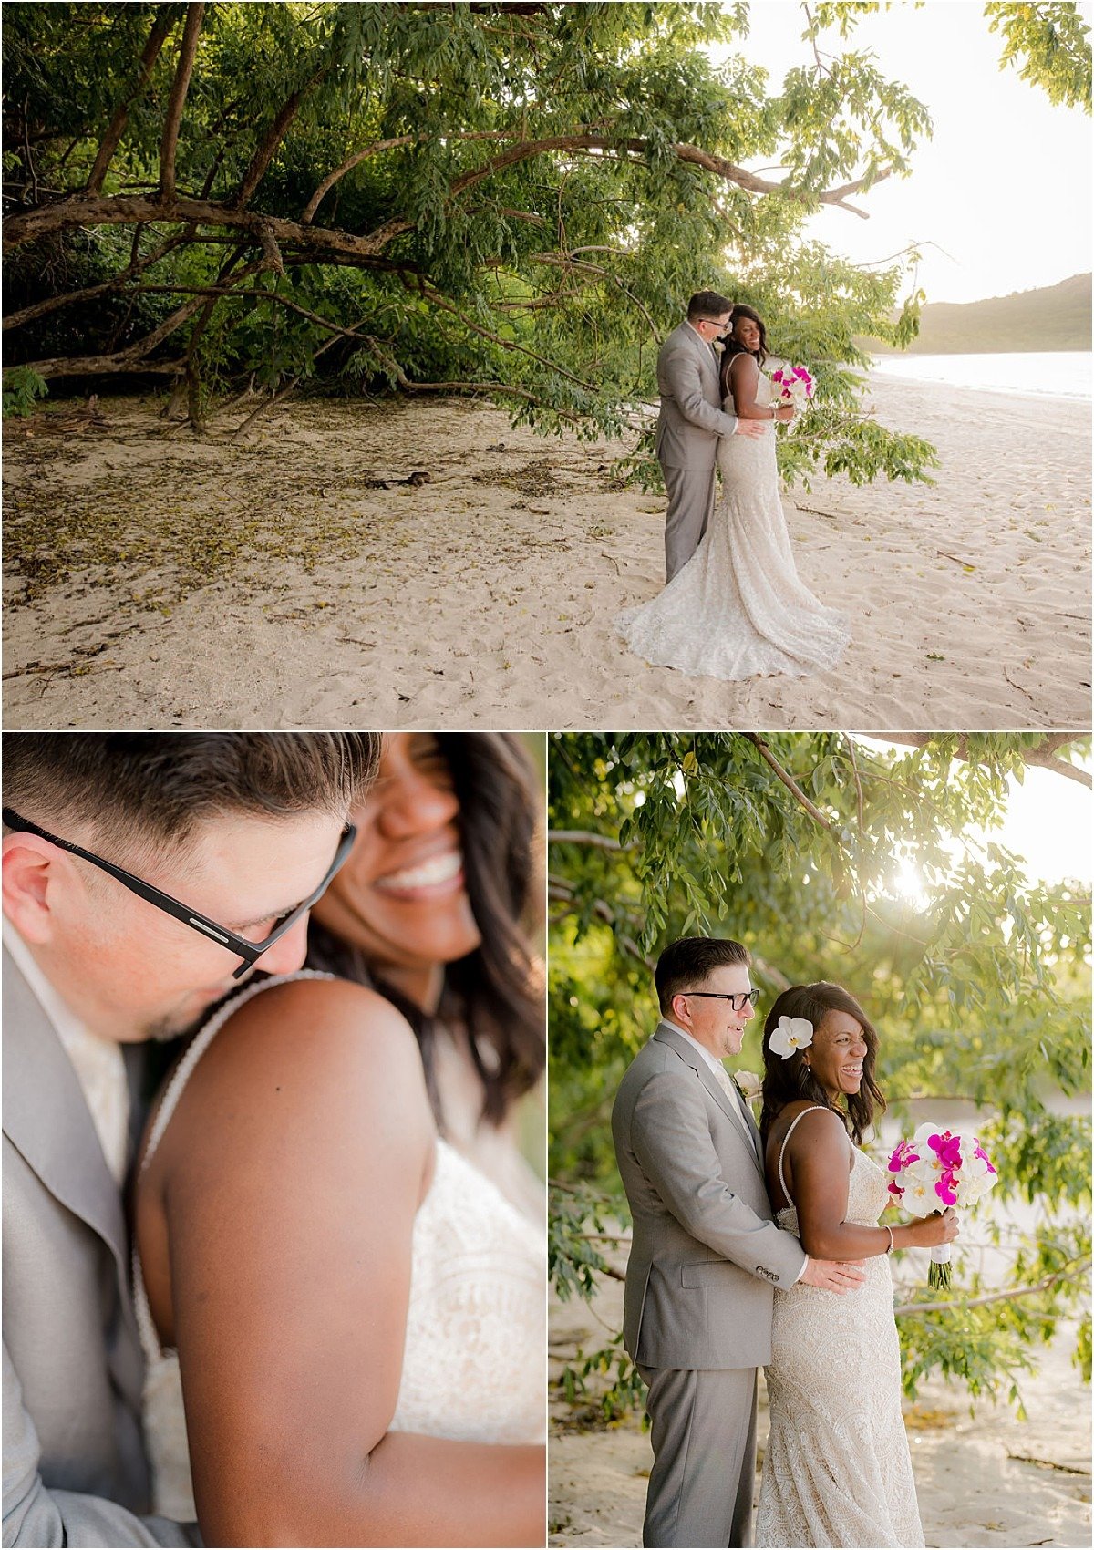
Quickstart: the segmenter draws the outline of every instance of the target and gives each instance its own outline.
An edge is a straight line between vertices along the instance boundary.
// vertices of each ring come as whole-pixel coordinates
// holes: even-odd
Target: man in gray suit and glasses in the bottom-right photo
[[[649,1386],[643,1545],[752,1544],[756,1369],[776,1286],[854,1290],[776,1228],[759,1132],[722,1060],[756,992],[739,942],[688,936],[654,973],[662,1020],[628,1068],[612,1138],[634,1217],[623,1344]]]

